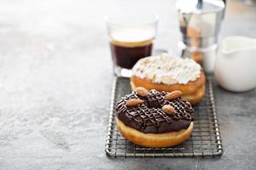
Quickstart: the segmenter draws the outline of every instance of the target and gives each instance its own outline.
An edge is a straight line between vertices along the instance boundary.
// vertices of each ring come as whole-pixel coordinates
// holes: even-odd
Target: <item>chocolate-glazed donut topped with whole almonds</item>
[[[116,105],[119,133],[144,147],[169,147],[189,139],[194,110],[182,92],[159,92],[138,87]]]

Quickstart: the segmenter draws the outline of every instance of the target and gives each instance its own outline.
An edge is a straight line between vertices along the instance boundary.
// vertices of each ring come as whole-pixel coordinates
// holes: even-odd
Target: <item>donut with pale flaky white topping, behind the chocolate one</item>
[[[183,99],[198,104],[205,95],[206,77],[201,65],[193,59],[181,59],[168,54],[139,59],[131,70],[131,89],[183,92]]]

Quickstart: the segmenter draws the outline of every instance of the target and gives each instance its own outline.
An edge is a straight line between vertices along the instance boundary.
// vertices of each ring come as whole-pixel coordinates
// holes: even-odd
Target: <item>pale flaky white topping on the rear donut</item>
[[[140,59],[132,68],[132,75],[156,83],[187,84],[201,74],[201,66],[193,59],[172,57],[169,54]]]

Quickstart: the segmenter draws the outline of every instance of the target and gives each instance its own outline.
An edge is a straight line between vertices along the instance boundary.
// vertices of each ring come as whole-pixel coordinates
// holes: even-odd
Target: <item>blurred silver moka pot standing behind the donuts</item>
[[[200,63],[207,73],[214,70],[218,32],[225,4],[220,0],[177,0],[177,15],[182,33],[178,42],[183,58]]]

